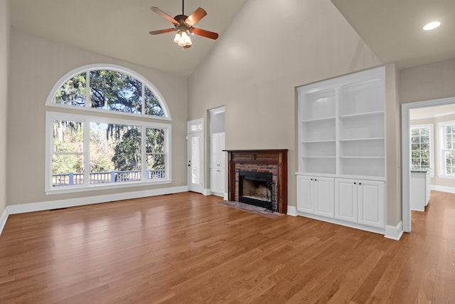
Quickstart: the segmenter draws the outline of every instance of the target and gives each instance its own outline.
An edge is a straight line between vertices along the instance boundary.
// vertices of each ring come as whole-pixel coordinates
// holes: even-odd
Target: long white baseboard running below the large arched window
[[[179,192],[188,192],[187,186],[182,187],[172,187],[172,188],[161,188],[161,189],[151,189],[137,192],[124,192],[117,194],[106,194],[99,196],[86,196],[80,197],[77,199],[60,199],[56,201],[40,201],[37,203],[29,204],[19,204],[19,205],[10,205],[6,206],[4,213],[0,217],[0,234],[3,231],[4,225],[6,224],[6,219],[8,219],[9,214],[21,214],[26,212],[33,211],[43,211],[50,209],[58,208],[67,208],[74,206],[84,206],[90,204],[105,203],[107,201],[121,201],[123,199],[138,199],[140,197],[146,196],[157,196],[163,194],[174,194]]]

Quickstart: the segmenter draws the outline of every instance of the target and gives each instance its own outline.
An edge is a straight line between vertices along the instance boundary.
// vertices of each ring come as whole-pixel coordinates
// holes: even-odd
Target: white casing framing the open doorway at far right
[[[411,135],[410,135],[410,109],[434,107],[437,105],[450,105],[455,103],[455,97],[423,100],[401,105],[401,151],[402,151],[402,224],[403,231],[411,232]],[[434,132],[437,134],[437,132]],[[437,164],[434,164],[437,166]],[[432,168],[434,169],[434,168]]]

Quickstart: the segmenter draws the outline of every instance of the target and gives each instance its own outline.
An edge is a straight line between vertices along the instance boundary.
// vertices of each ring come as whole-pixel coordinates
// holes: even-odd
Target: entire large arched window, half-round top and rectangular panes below
[[[46,112],[46,193],[171,181],[171,124],[154,121],[170,115],[141,75],[82,67],[60,78],[46,105],[60,108]]]

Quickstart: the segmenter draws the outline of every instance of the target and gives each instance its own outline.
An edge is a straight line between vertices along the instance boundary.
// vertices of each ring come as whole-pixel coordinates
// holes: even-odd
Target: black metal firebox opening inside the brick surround
[[[239,201],[276,211],[272,172],[239,171]]]

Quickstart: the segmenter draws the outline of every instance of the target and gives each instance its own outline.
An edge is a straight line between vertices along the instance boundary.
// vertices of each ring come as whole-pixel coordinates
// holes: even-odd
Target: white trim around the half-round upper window
[[[111,111],[111,110],[105,110],[105,109],[100,109],[100,108],[90,108],[90,107],[77,107],[74,105],[62,105],[60,103],[53,103],[53,98],[55,94],[60,90],[63,84],[65,84],[68,80],[71,78],[75,77],[76,75],[79,75],[80,73],[84,73],[90,70],[115,70],[119,73],[125,73],[127,75],[130,75],[132,78],[136,78],[137,80],[141,81],[144,85],[149,87],[149,89],[156,95],[156,98],[158,99],[161,109],[164,112],[164,117],[161,116],[155,116],[155,115],[145,115],[145,114],[137,114],[137,113],[129,113],[129,112],[117,112],[117,111]],[[89,80],[90,81],[90,80]],[[143,103],[144,104],[144,103]],[[147,117],[147,118],[153,118],[156,120],[171,120],[171,113],[169,112],[168,105],[166,101],[164,100],[163,95],[159,92],[158,89],[149,81],[147,80],[144,76],[140,75],[139,73],[135,72],[134,70],[130,70],[129,68],[124,68],[119,65],[113,65],[109,63],[97,63],[97,64],[92,64],[92,65],[83,65],[79,68],[75,68],[74,70],[71,70],[70,72],[66,73],[63,75],[62,78],[60,78],[55,85],[53,86],[52,90],[50,90],[50,93],[48,95],[48,98],[45,101],[45,105],[49,107],[56,107],[56,108],[66,108],[66,109],[75,109],[75,110],[85,110],[85,111],[90,111],[90,112],[97,112],[97,113],[109,113],[109,114],[114,114],[114,115],[131,115],[135,117]],[[144,107],[142,107],[144,108]],[[144,110],[144,109],[142,109]],[[142,111],[144,113],[144,111]]]

